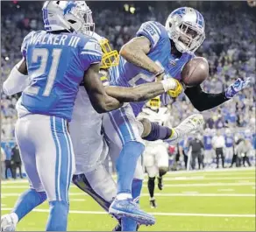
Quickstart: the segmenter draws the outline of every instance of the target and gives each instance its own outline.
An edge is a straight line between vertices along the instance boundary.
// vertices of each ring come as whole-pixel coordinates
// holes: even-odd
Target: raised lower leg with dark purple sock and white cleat
[[[188,133],[198,130],[204,121],[202,115],[195,114],[188,116],[175,128],[168,128],[167,126],[161,126],[158,123],[151,123],[147,119],[142,119],[140,122],[144,127],[141,136],[143,139],[148,141],[162,139],[167,140],[168,143],[176,144]]]

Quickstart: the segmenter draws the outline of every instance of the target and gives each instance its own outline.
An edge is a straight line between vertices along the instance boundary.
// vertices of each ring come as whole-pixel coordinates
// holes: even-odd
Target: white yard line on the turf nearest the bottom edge
[[[3,211],[11,210],[11,207],[3,207]],[[33,209],[33,212],[49,213],[49,209]],[[82,210],[69,210],[69,214],[107,214],[103,211],[82,211]],[[160,216],[199,216],[199,217],[249,217],[255,218],[255,214],[192,214],[192,213],[150,213]]]

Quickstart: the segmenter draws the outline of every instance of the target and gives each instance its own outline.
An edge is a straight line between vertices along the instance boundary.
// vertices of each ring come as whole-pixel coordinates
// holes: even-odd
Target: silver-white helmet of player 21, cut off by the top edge
[[[42,11],[46,32],[68,30],[87,34],[94,31],[92,12],[85,1],[46,1]]]

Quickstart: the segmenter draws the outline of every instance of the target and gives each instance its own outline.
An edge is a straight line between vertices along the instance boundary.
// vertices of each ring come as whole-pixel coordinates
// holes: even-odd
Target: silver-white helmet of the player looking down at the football
[[[166,29],[181,53],[194,53],[205,39],[203,15],[190,7],[181,7],[169,15]]]

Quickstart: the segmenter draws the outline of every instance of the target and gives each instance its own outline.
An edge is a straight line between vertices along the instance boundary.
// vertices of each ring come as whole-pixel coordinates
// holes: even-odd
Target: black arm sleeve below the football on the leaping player
[[[225,97],[224,92],[220,94],[208,94],[203,92],[200,86],[187,88],[184,93],[188,96],[193,106],[199,111],[215,108],[229,100]]]

